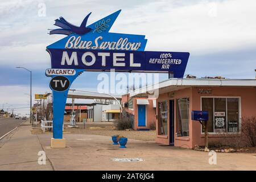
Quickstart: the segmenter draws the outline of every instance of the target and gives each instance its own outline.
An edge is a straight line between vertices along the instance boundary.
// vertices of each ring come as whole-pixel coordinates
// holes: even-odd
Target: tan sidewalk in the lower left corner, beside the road
[[[38,164],[43,148],[37,135],[32,135],[29,121],[0,141],[0,170],[52,170],[51,163]]]

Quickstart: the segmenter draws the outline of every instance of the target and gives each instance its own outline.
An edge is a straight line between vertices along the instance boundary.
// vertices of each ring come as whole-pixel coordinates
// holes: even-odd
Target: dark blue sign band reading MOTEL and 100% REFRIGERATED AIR
[[[86,69],[88,71],[177,72],[182,77],[189,53],[152,51],[103,51],[80,49],[49,49],[52,68]],[[167,55],[167,56],[166,56]]]

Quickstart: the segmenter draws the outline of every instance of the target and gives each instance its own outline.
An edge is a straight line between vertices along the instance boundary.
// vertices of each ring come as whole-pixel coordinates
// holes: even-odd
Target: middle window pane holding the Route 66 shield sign
[[[215,132],[226,132],[226,98],[214,98]]]

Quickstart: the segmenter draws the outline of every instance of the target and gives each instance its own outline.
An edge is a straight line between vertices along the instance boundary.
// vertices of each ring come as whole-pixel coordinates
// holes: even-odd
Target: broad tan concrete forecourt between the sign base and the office
[[[50,148],[51,135],[38,135],[55,170],[256,170],[256,154],[217,153],[217,165],[208,152],[159,146],[129,139],[127,148],[113,145],[111,137],[66,134],[67,148]],[[115,158],[141,158],[142,162],[115,162]]]

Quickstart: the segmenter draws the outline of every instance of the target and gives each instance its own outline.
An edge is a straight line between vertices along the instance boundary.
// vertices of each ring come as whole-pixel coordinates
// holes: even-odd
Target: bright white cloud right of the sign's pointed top
[[[256,46],[255,9],[251,0],[200,1],[177,7],[160,1],[125,10],[114,28],[145,34],[149,50],[194,54],[237,50]]]

